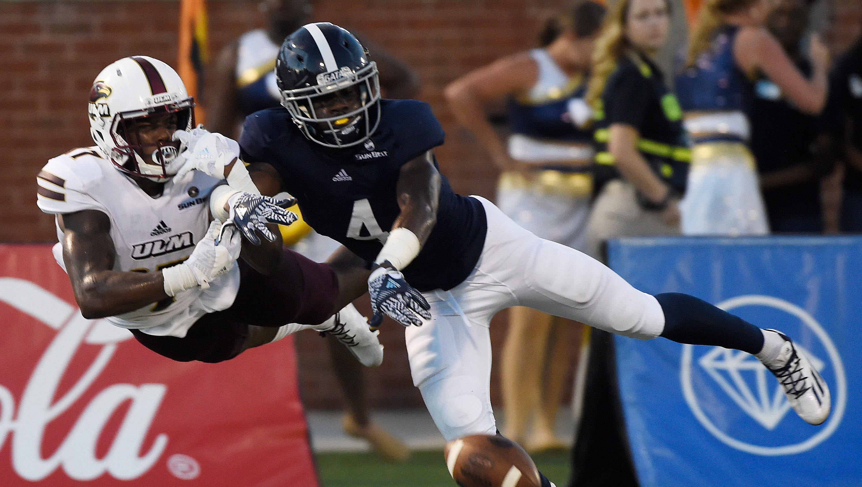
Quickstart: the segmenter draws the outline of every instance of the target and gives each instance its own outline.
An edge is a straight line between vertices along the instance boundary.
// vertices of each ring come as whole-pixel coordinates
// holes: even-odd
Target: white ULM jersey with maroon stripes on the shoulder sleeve
[[[37,177],[39,208],[50,214],[96,209],[110,219],[115,271],[156,272],[187,259],[209,228],[209,193],[219,184],[191,171],[169,181],[160,197],[150,197],[131,178],[104,159],[97,147],[75,149],[48,161]],[[63,233],[57,227],[57,236]],[[66,270],[62,245],[54,258]],[[208,290],[195,287],[159,303],[110,316],[122,328],[153,335],[184,337],[194,322],[234,303],[240,271],[234,265]]]

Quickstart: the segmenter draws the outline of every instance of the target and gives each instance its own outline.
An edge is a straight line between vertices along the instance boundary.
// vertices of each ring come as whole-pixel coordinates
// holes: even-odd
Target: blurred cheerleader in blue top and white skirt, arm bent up
[[[774,0],[705,0],[690,42],[688,69],[677,78],[694,143],[685,234],[766,234],[750,135],[753,79],[762,73],[805,113],[826,101],[828,51],[814,34],[809,81],[764,27]],[[766,86],[766,84],[761,84]]]

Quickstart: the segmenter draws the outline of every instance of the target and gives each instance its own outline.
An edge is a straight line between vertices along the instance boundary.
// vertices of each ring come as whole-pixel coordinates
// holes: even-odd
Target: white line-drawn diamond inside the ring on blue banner
[[[817,371],[823,371],[823,360],[798,344],[796,348],[809,356]],[[774,429],[790,410],[781,384],[751,353],[713,347],[698,363],[721,386],[721,390],[760,426]]]

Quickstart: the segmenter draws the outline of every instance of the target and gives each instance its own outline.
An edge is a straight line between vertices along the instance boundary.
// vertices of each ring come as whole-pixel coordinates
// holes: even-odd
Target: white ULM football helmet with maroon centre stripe
[[[105,156],[122,172],[164,181],[182,165],[179,142],[144,143],[135,127],[148,116],[177,115],[177,129],[195,127],[194,99],[171,66],[147,56],[111,63],[90,91],[90,134]],[[155,147],[149,157],[141,154]]]

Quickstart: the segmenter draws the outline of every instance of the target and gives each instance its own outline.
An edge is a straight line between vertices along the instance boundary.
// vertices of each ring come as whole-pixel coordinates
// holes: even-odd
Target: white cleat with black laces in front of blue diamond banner
[[[778,330],[767,331],[775,332],[784,339],[778,357],[769,363],[763,362],[763,365],[775,374],[784,387],[790,407],[809,424],[826,421],[832,407],[826,381],[820,377],[805,353],[793,345],[793,340]]]

